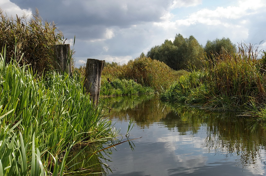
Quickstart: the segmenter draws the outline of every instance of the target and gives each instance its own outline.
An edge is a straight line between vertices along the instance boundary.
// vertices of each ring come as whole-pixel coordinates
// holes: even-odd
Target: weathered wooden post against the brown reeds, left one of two
[[[72,74],[70,44],[54,45],[53,65],[58,72]]]

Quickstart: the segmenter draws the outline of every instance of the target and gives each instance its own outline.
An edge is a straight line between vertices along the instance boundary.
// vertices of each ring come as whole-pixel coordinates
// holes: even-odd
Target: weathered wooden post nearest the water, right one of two
[[[87,59],[85,82],[86,92],[90,94],[92,103],[98,105],[100,88],[101,88],[101,72],[105,61],[97,59]]]

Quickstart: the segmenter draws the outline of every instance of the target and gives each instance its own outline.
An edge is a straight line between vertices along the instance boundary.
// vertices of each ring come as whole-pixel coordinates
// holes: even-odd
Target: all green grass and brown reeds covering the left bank
[[[53,71],[53,45],[64,42],[38,9],[31,19],[0,11],[0,175],[104,173],[93,164],[73,171],[95,157],[73,163],[81,153],[73,156],[73,149],[120,142],[85,93],[83,77]]]

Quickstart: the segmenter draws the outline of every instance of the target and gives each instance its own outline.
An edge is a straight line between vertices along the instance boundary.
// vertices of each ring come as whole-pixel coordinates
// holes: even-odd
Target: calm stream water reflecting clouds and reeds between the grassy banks
[[[142,137],[101,153],[107,175],[266,175],[265,128],[243,116],[148,96],[104,102],[122,136],[133,119],[129,139]]]

